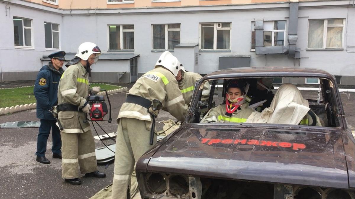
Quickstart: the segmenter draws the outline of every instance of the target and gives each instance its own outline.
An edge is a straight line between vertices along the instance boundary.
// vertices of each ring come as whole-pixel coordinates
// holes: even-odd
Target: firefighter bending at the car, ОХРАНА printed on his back
[[[175,79],[180,70],[178,62],[169,51],[163,52],[155,68],[136,81],[122,104],[117,118],[112,198],[130,198],[133,167],[143,153],[154,146],[149,143],[153,118],[149,112],[156,116],[159,112],[151,109],[152,101],[160,101],[159,108],[168,110],[178,120],[185,118],[187,105]],[[153,139],[155,144],[156,135]]]

